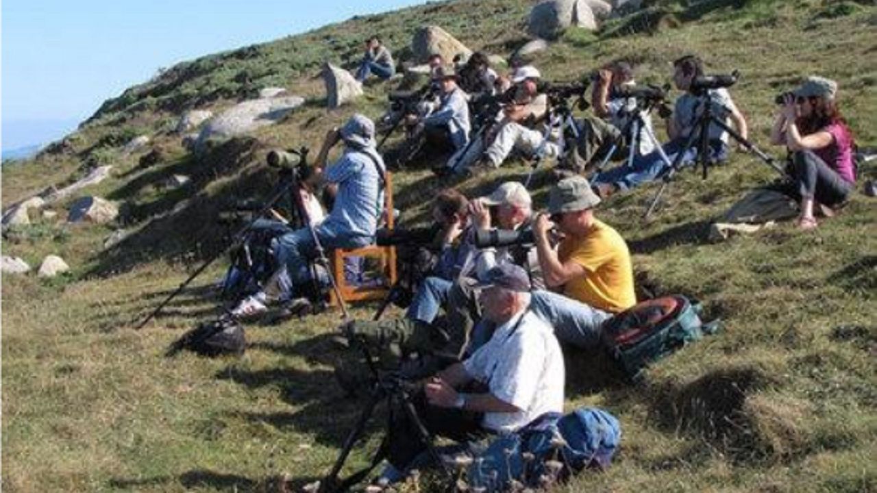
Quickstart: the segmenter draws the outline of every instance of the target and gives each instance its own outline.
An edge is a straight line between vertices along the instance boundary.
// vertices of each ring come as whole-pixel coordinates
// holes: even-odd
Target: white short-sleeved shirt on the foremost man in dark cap
[[[485,413],[485,428],[514,432],[545,412],[563,412],[566,371],[560,344],[552,328],[529,309],[500,325],[463,361],[463,368],[494,397],[522,410]]]

